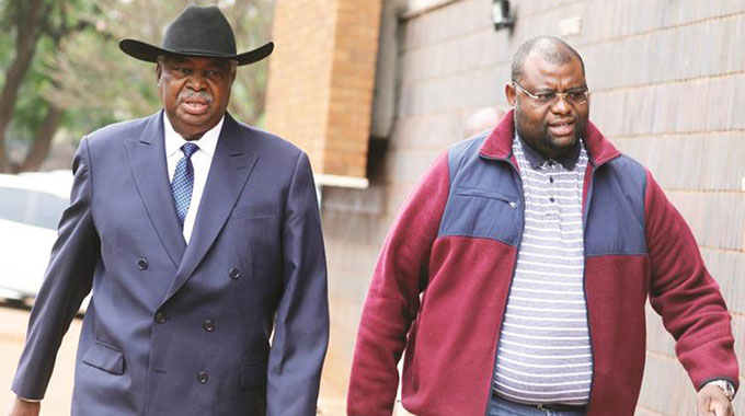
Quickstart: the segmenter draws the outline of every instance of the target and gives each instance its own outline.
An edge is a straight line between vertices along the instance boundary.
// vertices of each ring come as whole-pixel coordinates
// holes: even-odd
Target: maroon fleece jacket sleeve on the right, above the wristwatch
[[[737,386],[731,316],[680,213],[646,172],[646,241],[652,308],[676,340],[678,359],[699,390],[725,379]]]

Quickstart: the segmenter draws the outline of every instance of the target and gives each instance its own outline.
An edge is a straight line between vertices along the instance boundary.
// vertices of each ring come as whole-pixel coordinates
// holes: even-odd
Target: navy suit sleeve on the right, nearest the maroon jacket
[[[316,415],[329,343],[326,265],[310,162],[298,158],[283,231],[284,290],[267,374],[267,416]]]

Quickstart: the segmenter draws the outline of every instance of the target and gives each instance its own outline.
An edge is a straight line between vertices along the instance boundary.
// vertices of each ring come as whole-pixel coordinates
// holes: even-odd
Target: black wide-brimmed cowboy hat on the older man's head
[[[122,39],[119,48],[127,55],[157,62],[160,55],[186,55],[237,60],[238,65],[260,61],[274,50],[272,42],[243,54],[236,53],[236,36],[230,23],[215,5],[191,4],[165,30],[161,47],[136,39]]]

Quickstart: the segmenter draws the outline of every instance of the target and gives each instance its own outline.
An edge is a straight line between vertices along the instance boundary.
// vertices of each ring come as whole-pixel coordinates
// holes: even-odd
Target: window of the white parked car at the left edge
[[[67,198],[28,189],[0,187],[0,218],[56,230]]]

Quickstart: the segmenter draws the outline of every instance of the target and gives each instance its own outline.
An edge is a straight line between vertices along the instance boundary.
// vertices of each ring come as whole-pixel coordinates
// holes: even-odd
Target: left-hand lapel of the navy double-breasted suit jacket
[[[171,185],[168,182],[162,117],[162,111],[151,116],[139,139],[128,139],[124,143],[137,190],[152,227],[156,228],[173,265],[179,267],[186,242],[173,205]]]

